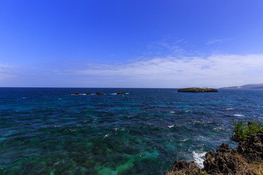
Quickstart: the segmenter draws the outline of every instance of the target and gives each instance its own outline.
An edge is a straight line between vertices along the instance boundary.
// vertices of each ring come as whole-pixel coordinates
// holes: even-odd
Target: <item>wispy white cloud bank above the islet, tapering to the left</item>
[[[70,70],[79,76],[155,83],[156,87],[242,85],[262,83],[263,55],[210,55],[207,57],[155,57],[130,64],[89,64]],[[159,82],[159,83],[158,83]],[[137,85],[141,87],[142,85]]]

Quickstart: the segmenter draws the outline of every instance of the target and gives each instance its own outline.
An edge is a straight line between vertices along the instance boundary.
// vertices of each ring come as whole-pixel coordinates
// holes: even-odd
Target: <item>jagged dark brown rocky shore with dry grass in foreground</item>
[[[247,136],[232,151],[225,143],[216,148],[216,153],[209,150],[203,164],[200,169],[194,161],[176,160],[165,175],[262,175],[263,131]]]

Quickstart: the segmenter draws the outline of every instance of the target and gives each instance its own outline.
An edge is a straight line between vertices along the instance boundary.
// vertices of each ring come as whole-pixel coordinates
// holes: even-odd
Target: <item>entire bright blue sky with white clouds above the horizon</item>
[[[262,0],[2,0],[0,87],[263,83]]]

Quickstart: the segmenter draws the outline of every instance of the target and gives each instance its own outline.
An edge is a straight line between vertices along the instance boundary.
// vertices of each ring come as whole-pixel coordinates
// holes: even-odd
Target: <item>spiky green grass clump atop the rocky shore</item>
[[[235,126],[234,130],[231,133],[231,140],[236,142],[244,141],[246,136],[263,131],[263,122],[262,121],[253,121],[253,122],[244,122],[241,121],[232,121]]]

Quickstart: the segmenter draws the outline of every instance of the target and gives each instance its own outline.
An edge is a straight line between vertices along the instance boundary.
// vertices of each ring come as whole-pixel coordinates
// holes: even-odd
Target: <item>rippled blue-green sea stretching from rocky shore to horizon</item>
[[[263,89],[219,91],[0,88],[0,175],[162,175],[177,159],[202,167],[208,150],[237,146],[232,120],[263,120]],[[105,94],[85,95],[95,92]]]

